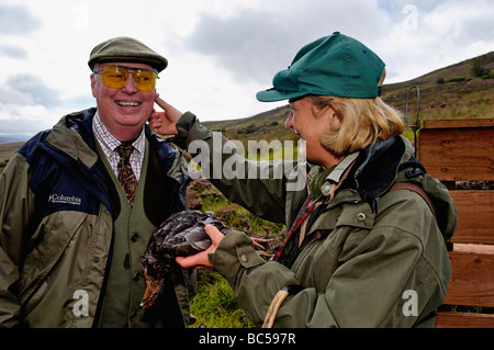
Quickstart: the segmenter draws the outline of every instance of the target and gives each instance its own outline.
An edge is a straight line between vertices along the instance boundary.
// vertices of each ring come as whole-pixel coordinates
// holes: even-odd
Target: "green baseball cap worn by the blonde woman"
[[[384,63],[362,43],[339,32],[305,45],[285,70],[279,71],[273,88],[259,91],[261,102],[321,94],[373,99]]]

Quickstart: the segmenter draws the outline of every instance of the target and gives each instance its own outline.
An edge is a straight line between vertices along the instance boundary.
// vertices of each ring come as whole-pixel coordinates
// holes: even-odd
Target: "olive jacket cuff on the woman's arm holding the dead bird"
[[[266,263],[254,249],[252,240],[238,230],[227,234],[216,248],[216,251],[207,257],[216,271],[231,285],[236,284],[236,278],[240,269],[250,269]]]

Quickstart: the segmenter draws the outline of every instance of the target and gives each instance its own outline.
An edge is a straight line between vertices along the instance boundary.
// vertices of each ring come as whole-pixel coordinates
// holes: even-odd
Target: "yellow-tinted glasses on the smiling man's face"
[[[156,79],[158,74],[150,69],[125,67],[125,66],[104,66],[94,74],[101,74],[101,81],[108,88],[122,89],[128,79],[128,71],[132,71],[135,87],[141,91],[153,91],[156,89]]]

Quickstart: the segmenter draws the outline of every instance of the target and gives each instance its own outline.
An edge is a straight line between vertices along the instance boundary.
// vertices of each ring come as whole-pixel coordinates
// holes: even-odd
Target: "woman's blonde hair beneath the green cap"
[[[385,71],[380,83],[384,80]],[[375,99],[350,99],[326,95],[310,95],[313,113],[318,114],[332,108],[338,116],[339,125],[332,125],[321,136],[321,144],[336,155],[348,155],[363,149],[379,139],[398,136],[405,129],[402,114]]]

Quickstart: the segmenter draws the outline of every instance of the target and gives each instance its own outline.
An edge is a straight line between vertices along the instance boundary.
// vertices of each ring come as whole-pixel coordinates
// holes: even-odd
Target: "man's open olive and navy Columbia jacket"
[[[97,325],[121,210],[97,154],[91,129],[94,112],[67,115],[52,131],[33,137],[0,176],[0,327]],[[149,160],[139,205],[157,227],[184,207],[187,166],[180,153],[147,126],[146,139]],[[133,225],[137,230],[128,237],[136,269],[132,282],[144,284],[138,257],[151,232]],[[171,280],[173,319],[183,327],[190,319],[193,284],[189,271],[181,269]],[[135,307],[139,297],[135,296]],[[158,319],[171,314],[170,309],[161,313],[165,317],[143,309],[136,313],[130,316],[128,327],[158,327],[162,325]]]

